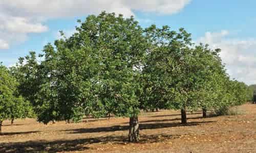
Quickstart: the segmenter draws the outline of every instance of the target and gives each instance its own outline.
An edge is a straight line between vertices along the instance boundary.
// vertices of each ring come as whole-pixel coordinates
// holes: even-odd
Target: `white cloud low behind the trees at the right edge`
[[[247,84],[256,83],[256,39],[229,38],[228,31],[206,32],[197,42],[208,43],[211,48],[221,48],[220,54],[231,78]]]

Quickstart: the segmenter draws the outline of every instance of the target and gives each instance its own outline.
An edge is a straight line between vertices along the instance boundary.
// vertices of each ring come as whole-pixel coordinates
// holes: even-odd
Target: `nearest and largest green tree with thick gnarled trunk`
[[[84,114],[113,113],[130,117],[129,140],[138,141],[140,66],[147,49],[143,29],[133,17],[102,12],[76,30],[56,40],[56,49],[51,44],[44,49],[41,67],[51,67],[43,70],[50,81],[40,85],[38,120],[80,121]]]

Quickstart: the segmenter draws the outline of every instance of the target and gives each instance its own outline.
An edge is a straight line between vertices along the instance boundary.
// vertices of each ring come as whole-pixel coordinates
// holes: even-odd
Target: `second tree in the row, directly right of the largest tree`
[[[146,29],[152,46],[147,50],[143,74],[145,107],[180,109],[186,123],[186,108],[195,108],[196,79],[200,77],[197,50],[192,48],[190,34],[184,29],[171,31],[152,25]],[[199,58],[198,58],[199,59]],[[198,65],[199,66],[199,65]],[[198,70],[198,71],[197,71]],[[198,79],[199,80],[199,79]]]

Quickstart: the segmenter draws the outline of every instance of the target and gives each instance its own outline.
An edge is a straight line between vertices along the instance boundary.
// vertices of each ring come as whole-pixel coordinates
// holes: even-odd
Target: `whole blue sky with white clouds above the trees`
[[[142,27],[185,28],[195,43],[221,48],[231,78],[256,84],[254,0],[0,0],[0,62],[14,65],[29,51],[75,32],[77,19],[101,11],[131,15]]]

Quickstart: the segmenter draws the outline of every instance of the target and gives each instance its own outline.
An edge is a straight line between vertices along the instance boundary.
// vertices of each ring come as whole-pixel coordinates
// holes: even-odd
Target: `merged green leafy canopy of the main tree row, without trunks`
[[[141,109],[216,109],[251,96],[232,81],[219,53],[195,45],[183,28],[143,29],[133,18],[89,15],[69,38],[20,58],[12,74],[38,121],[78,122],[84,115],[136,117]]]

